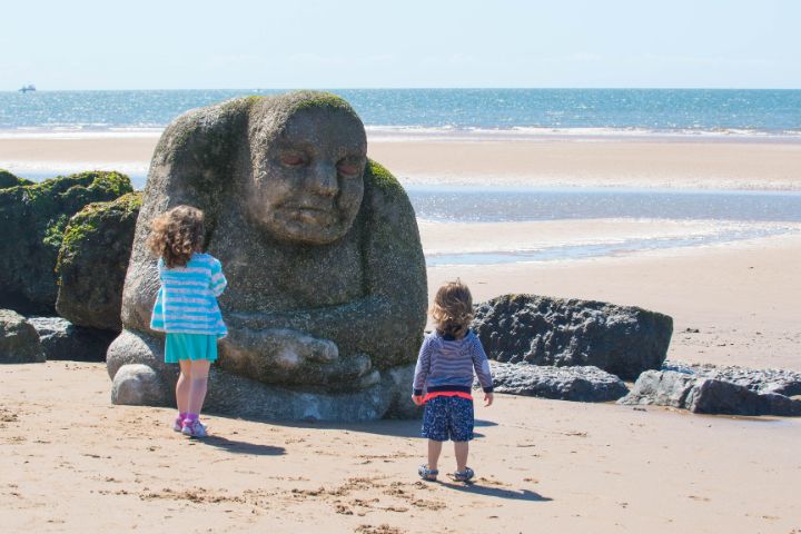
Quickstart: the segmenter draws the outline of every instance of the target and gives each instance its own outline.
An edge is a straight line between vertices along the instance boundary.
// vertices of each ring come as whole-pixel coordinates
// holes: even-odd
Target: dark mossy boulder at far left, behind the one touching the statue
[[[67,221],[87,204],[130,191],[127,176],[101,171],[0,189],[0,307],[52,315]]]

